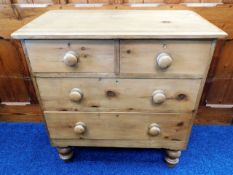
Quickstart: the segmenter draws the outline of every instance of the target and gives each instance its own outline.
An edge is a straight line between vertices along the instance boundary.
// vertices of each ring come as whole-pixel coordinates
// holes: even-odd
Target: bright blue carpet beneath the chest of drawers
[[[231,126],[194,126],[188,149],[173,169],[156,149],[76,148],[75,159],[64,163],[41,123],[0,123],[0,145],[0,175],[233,174]]]

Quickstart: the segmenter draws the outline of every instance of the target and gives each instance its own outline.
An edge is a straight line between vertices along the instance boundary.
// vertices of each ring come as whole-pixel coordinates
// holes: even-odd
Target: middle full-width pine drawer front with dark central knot
[[[199,79],[37,78],[47,111],[191,112],[200,83]]]

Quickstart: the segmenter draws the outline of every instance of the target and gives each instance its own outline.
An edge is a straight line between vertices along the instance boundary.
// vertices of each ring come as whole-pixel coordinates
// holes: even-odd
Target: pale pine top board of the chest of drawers
[[[15,39],[223,38],[188,10],[53,10],[12,34]]]

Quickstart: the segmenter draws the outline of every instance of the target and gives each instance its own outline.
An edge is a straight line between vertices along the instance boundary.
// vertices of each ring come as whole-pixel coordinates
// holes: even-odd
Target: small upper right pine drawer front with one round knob
[[[121,40],[120,72],[201,78],[212,57],[210,51],[211,41]]]

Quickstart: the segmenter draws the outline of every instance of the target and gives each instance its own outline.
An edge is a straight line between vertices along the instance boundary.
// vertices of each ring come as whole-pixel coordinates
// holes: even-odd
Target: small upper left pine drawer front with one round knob
[[[113,40],[26,40],[33,72],[114,72]]]

